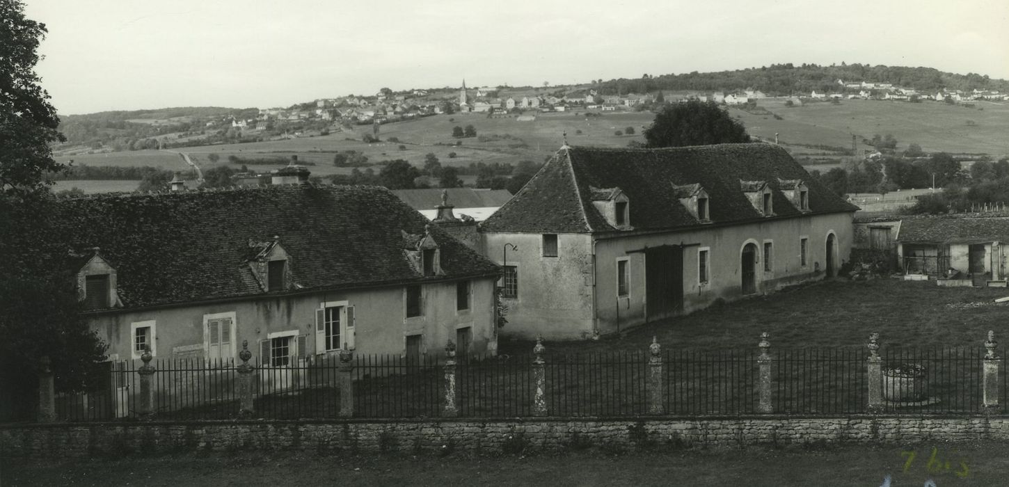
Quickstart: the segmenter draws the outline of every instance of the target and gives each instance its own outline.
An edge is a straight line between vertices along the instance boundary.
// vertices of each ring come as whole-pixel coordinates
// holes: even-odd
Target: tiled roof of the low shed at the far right
[[[1009,218],[932,217],[903,220],[898,242],[982,243],[1009,242]]]

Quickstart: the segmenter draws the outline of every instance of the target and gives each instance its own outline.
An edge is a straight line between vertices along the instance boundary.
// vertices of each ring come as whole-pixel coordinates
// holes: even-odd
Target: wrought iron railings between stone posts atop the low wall
[[[88,421],[152,413],[162,419],[227,419],[243,406],[239,382],[250,381],[251,412],[267,419],[330,418],[341,411],[341,394],[352,395],[357,417],[638,416],[661,411],[676,415],[978,413],[984,410],[985,350],[982,348],[879,350],[882,400],[870,407],[870,380],[863,347],[757,350],[663,350],[459,358],[358,355],[313,357],[274,366],[251,361],[243,379],[232,360],[150,361],[141,377],[139,362],[120,362],[107,380],[86,392],[57,394],[58,420]],[[536,367],[542,367],[538,383]],[[762,367],[770,374],[762,385]],[[998,402],[1009,401],[1009,377],[994,376]],[[446,385],[451,374],[454,387]],[[144,410],[140,382],[152,393]],[[346,385],[349,384],[349,385]],[[768,403],[761,400],[767,387]],[[658,390],[657,390],[658,389]],[[31,420],[34,409],[0,400],[0,420]],[[30,414],[29,414],[30,412]],[[32,417],[29,417],[32,416]]]

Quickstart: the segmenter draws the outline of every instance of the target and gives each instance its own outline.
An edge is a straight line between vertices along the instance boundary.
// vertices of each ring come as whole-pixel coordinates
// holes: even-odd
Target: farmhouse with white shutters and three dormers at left
[[[495,347],[497,266],[383,188],[69,199],[48,228],[112,362],[148,345],[230,361],[246,340],[274,366]]]

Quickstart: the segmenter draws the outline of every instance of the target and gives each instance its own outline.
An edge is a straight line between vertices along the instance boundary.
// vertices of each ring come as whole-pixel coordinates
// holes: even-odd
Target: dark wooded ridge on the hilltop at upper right
[[[915,88],[918,91],[949,90],[999,90],[1009,91],[1009,81],[991,80],[974,73],[956,75],[932,68],[905,68],[869,65],[793,66],[771,65],[746,70],[717,73],[687,73],[682,75],[643,75],[640,79],[620,79],[602,82],[599,91],[604,95],[628,93],[654,93],[671,91],[718,91],[754,89],[771,96],[808,94],[839,91],[837,80],[845,83],[890,83],[894,86]]]

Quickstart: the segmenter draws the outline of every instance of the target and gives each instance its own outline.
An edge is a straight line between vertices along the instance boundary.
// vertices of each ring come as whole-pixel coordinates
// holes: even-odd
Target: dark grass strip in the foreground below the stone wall
[[[929,470],[935,459],[950,469]],[[911,454],[914,454],[911,459]],[[109,452],[114,455],[114,452]],[[908,460],[911,459],[911,462]],[[934,465],[934,463],[933,463]],[[433,452],[201,453],[159,458],[0,460],[0,483],[21,485],[1005,485],[1002,443],[845,446],[815,450],[600,448],[482,455]],[[933,484],[925,484],[931,480]]]

